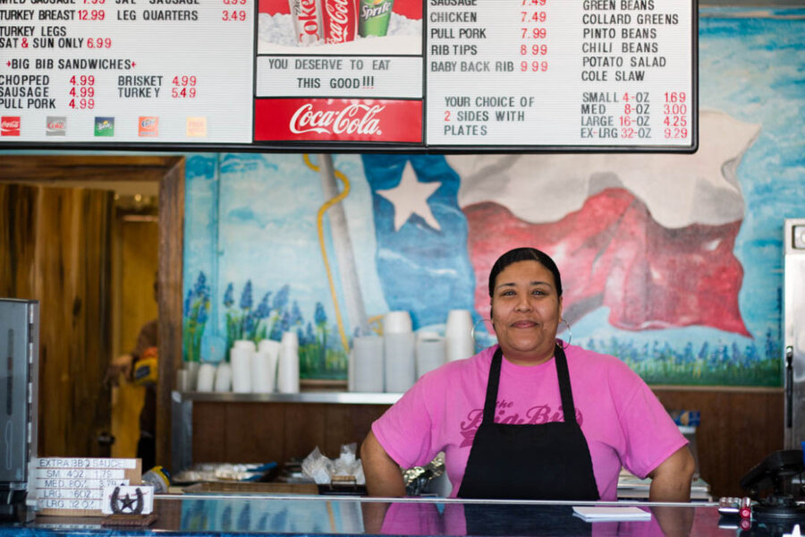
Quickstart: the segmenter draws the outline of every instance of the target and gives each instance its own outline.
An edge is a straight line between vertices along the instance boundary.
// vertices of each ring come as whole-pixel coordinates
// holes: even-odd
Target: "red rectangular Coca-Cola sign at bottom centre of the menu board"
[[[255,141],[422,141],[422,101],[258,98]]]

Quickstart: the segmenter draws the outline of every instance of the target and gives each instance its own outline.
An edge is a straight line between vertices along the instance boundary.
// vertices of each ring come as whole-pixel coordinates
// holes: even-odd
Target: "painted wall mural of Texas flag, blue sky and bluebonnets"
[[[779,386],[803,16],[701,11],[693,155],[190,156],[185,360],[292,330],[302,379],[345,379],[387,311],[430,331],[486,318],[489,268],[528,244],[562,271],[562,337],[649,383]]]

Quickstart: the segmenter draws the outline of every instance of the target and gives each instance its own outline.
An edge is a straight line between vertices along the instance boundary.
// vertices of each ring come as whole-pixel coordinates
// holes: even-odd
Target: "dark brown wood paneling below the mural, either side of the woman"
[[[781,389],[654,388],[665,408],[698,410],[699,465],[715,497],[742,496],[739,481],[783,448]],[[387,405],[313,403],[193,404],[193,462],[252,463],[308,456],[317,447],[335,458],[360,442]]]

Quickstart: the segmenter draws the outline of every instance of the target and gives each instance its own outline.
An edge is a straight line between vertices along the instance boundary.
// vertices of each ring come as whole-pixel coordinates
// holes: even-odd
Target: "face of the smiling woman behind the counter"
[[[517,261],[497,275],[492,324],[510,362],[536,365],[554,355],[562,297],[554,275],[538,261]]]

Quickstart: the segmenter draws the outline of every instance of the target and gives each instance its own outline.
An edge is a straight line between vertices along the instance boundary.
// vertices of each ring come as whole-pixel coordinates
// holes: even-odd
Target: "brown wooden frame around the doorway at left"
[[[0,155],[0,181],[6,183],[159,183],[157,462],[167,467],[171,467],[171,390],[175,371],[182,367],[184,163],[183,156]]]

